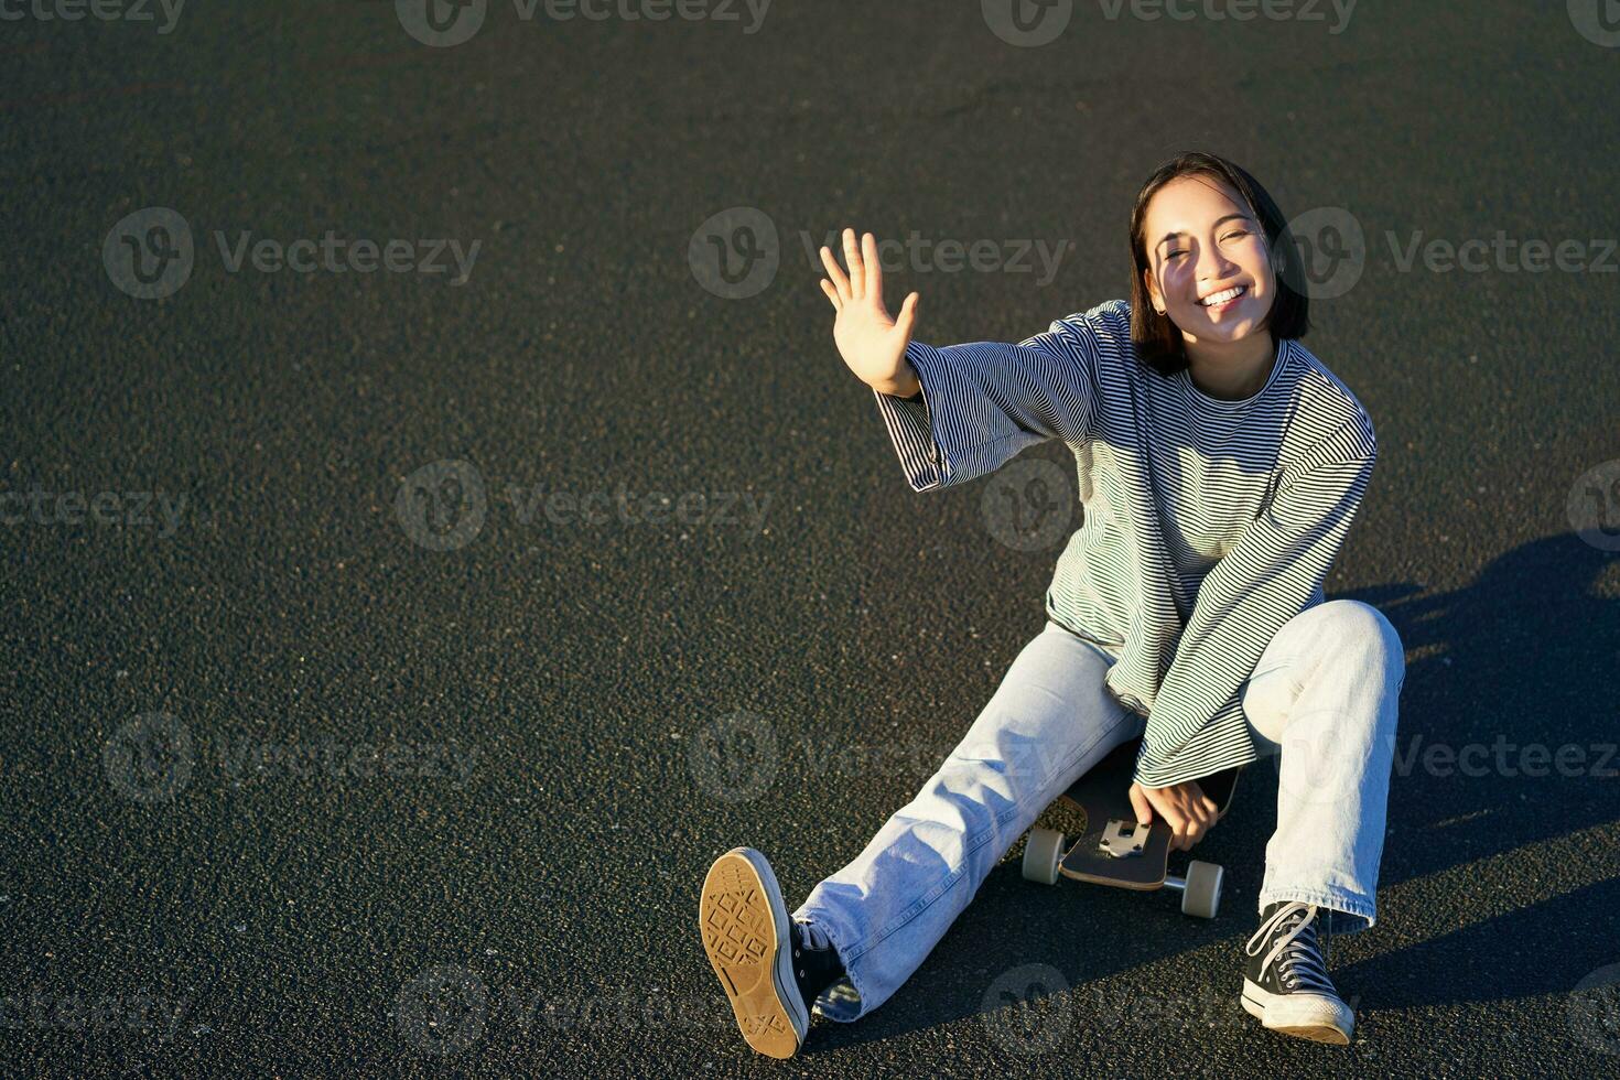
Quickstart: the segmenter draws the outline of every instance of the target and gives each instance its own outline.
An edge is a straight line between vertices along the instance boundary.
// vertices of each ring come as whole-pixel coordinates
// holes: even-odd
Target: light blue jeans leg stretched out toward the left
[[[821,1015],[849,1022],[888,1001],[1035,818],[1140,735],[1103,682],[1115,661],[1048,622],[922,792],[816,884],[794,916],[825,928],[846,968]]]

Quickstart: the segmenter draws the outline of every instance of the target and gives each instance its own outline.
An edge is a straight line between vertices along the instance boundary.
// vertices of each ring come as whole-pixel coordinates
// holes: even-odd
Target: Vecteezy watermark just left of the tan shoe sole
[[[458,1054],[494,1027],[518,1035],[552,1031],[646,1031],[734,1028],[714,996],[676,997],[656,986],[598,994],[546,994],[518,986],[491,988],[460,963],[434,963],[405,980],[394,1023],[411,1049],[434,1057]]]

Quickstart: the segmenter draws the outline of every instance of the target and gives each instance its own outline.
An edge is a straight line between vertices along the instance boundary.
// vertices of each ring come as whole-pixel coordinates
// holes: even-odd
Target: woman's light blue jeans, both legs
[[[794,916],[825,928],[846,968],[821,1015],[849,1022],[888,1001],[1040,813],[1142,733],[1103,682],[1115,661],[1048,622],[922,792],[816,884]],[[1361,601],[1317,604],[1265,648],[1241,691],[1256,748],[1278,758],[1244,780],[1277,777],[1260,910],[1306,900],[1328,910],[1330,931],[1374,925],[1405,677],[1400,636]]]

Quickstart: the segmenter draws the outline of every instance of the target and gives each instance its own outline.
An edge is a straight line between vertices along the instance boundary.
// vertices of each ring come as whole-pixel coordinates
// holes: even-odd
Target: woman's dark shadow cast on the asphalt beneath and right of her
[[[1452,593],[1396,583],[1328,599],[1340,596],[1379,607],[1408,661],[1379,925],[1333,939],[1338,989],[1366,1018],[1562,994],[1620,962],[1620,555],[1570,533],[1518,547]],[[1069,994],[1102,984],[1139,999],[1129,976],[1113,976],[1166,960],[1186,978],[1153,1004],[1213,994],[1236,1010],[1275,793],[1275,758],[1262,758],[1192,850],[1226,868],[1215,920],[1181,915],[1168,891],[1024,881],[1019,840],[888,1002],[855,1023],[816,1020],[802,1052],[990,1017],[1021,993],[1038,999],[1064,983]],[[1173,857],[1171,873],[1178,858],[1187,857]],[[1053,975],[1045,968],[1058,975],[1045,983],[1058,984],[1027,991]],[[1199,994],[1204,983],[1212,989]]]

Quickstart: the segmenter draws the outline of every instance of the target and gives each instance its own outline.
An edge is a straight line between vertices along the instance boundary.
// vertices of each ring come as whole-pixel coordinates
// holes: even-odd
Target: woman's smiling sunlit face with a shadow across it
[[[1218,348],[1265,329],[1277,275],[1243,196],[1213,176],[1176,176],[1153,193],[1142,235],[1147,291],[1189,343]],[[1223,303],[1202,303],[1210,296]]]

